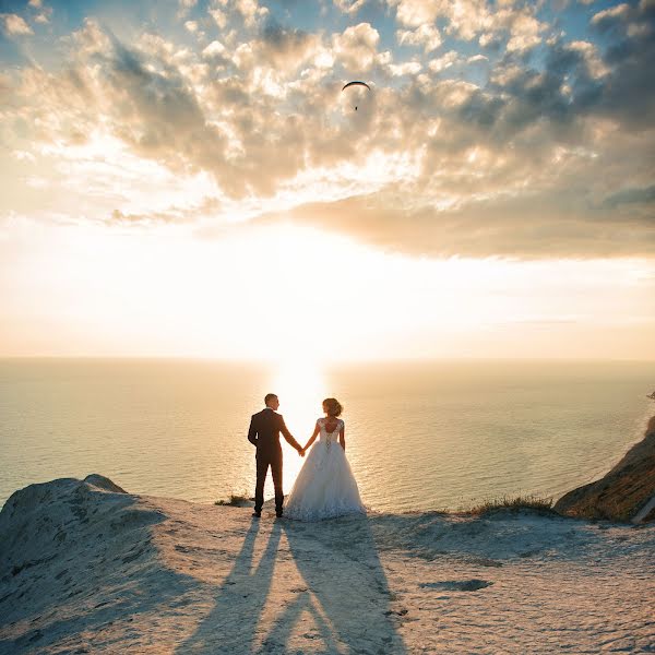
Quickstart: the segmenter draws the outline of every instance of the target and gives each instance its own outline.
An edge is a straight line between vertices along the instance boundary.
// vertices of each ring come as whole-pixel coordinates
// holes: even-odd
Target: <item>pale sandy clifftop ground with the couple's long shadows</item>
[[[0,653],[653,653],[655,526],[264,510],[32,485]]]

